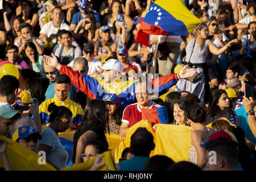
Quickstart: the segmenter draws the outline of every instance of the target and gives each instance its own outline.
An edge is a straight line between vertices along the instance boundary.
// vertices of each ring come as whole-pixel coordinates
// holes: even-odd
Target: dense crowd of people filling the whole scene
[[[183,0],[202,23],[185,36],[150,35],[147,47],[134,36],[153,3],[4,0],[0,59],[19,78],[0,80],[0,135],[46,152],[59,170],[68,158],[79,164],[108,151],[106,134],[125,140],[144,111],[164,108],[165,120],[148,117],[152,129],[190,127],[189,161],[150,157],[154,137],[139,127],[117,170],[255,171],[256,1]],[[75,131],[72,154],[58,135],[68,131]],[[0,141],[12,170],[6,148]],[[101,155],[90,170],[104,164]]]

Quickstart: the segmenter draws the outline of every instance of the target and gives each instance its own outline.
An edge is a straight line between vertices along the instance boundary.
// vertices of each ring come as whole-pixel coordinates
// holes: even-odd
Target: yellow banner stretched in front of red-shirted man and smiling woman
[[[147,120],[142,120],[127,131],[126,139],[124,141],[119,139],[119,135],[106,134],[106,139],[109,143],[109,150],[115,163],[119,162],[122,151],[126,147],[130,147],[131,135],[133,135],[138,127],[146,127],[146,129],[154,136],[155,149],[151,152],[150,156],[166,155],[175,162],[179,162],[181,160],[188,161],[188,152],[191,147],[190,127],[157,124],[156,131],[154,133],[151,129],[151,123]],[[59,133],[59,137],[73,141],[74,134],[75,131]]]

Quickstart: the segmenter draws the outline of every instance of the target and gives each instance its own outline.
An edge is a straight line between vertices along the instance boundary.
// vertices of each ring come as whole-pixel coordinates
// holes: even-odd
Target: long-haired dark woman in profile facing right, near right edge
[[[231,108],[232,101],[230,101],[226,91],[222,89],[213,90],[207,108],[208,123],[225,117],[229,119],[230,123],[238,125],[237,114]]]

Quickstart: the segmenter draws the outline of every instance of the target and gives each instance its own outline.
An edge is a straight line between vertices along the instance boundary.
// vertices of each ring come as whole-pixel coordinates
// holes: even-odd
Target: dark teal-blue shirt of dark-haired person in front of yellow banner
[[[150,157],[133,156],[128,160],[119,162],[119,171],[143,171],[143,168]]]

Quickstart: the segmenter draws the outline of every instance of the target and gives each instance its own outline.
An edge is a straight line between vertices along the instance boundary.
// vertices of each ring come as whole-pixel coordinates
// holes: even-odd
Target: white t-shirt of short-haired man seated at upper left
[[[48,22],[42,27],[40,34],[46,34],[49,37],[52,34],[57,34],[59,30],[71,30],[67,23],[61,22],[60,27],[53,26],[53,22]],[[52,43],[56,43],[57,39],[52,39]]]

